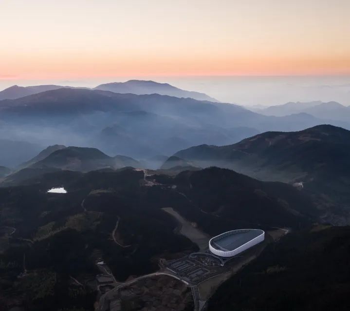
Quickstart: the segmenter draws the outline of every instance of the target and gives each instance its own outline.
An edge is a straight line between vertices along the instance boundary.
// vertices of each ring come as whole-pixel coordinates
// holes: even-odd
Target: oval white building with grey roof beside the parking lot
[[[265,238],[260,229],[239,229],[221,233],[209,240],[209,250],[220,257],[232,257],[257,245]]]

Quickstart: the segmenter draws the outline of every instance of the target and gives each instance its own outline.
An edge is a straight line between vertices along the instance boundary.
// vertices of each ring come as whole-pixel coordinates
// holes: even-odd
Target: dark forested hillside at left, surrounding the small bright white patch
[[[0,227],[16,228],[6,248],[0,249],[0,260],[6,263],[0,265],[1,306],[18,299],[18,305],[30,311],[74,306],[93,310],[95,299],[87,299],[89,293],[96,297],[93,287],[84,286],[72,295],[76,285],[70,276],[93,284],[100,273],[95,263],[101,258],[122,281],[157,271],[157,258],[165,253],[196,251],[189,239],[174,232],[177,221],[157,205],[162,195],[141,186],[143,178],[143,171],[132,168],[59,171],[43,175],[36,184],[0,188]],[[67,193],[47,193],[58,186]],[[115,236],[129,247],[113,240],[117,223]],[[24,253],[28,274],[18,282]],[[46,283],[42,272],[52,275],[53,283]]]

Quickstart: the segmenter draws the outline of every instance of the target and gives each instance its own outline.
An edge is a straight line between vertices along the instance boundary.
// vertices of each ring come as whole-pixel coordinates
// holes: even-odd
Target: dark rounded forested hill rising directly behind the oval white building
[[[193,211],[182,207],[192,221],[202,219],[212,233],[230,230],[228,226],[214,232],[215,218],[232,227],[303,227],[318,218],[311,199],[295,187],[281,182],[262,182],[227,169],[216,167],[182,172],[175,178],[177,191],[188,197]],[[207,217],[207,215],[215,218]],[[223,225],[222,225],[223,226]],[[232,230],[232,229],[231,229]]]

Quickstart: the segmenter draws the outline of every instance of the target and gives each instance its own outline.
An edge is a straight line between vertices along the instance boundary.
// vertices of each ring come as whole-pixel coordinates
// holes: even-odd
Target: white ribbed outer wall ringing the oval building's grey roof
[[[231,235],[231,234],[233,235],[233,234],[236,234],[236,233],[248,232],[248,231],[251,231],[251,230],[257,231],[260,234],[257,237],[255,237],[255,238],[251,239],[250,241],[242,244],[241,246],[239,246],[238,248],[236,248],[236,249],[234,249],[232,251],[222,251],[222,250],[218,250],[217,248],[212,246],[212,242],[215,242],[216,240],[220,239],[221,237],[224,237],[224,236],[227,236],[227,235]],[[221,233],[221,234],[211,238],[209,240],[209,250],[210,250],[211,253],[213,253],[215,255],[218,255],[220,257],[232,257],[232,256],[238,255],[239,253],[242,253],[243,251],[253,247],[254,245],[257,245],[258,243],[262,242],[264,239],[265,239],[265,232],[262,231],[262,230],[259,230],[259,229],[232,230],[232,231],[228,231],[228,232],[225,232],[225,233]]]

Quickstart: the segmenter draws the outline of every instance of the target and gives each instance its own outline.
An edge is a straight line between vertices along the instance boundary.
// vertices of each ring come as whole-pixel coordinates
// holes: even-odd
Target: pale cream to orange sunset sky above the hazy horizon
[[[0,0],[0,79],[350,74],[350,0]]]

